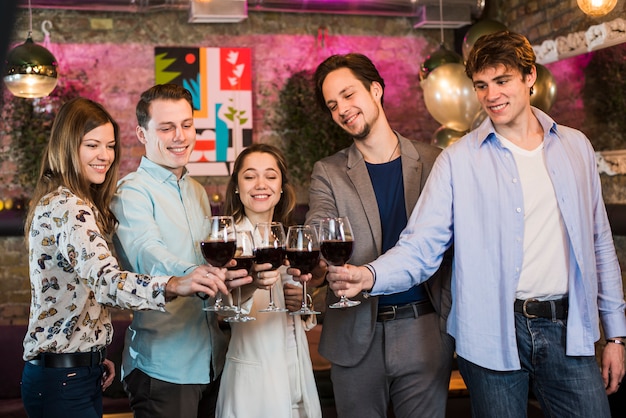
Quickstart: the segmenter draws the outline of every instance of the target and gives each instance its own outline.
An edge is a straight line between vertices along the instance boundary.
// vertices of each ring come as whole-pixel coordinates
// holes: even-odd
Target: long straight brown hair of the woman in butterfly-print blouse
[[[91,130],[110,123],[115,134],[115,158],[102,184],[91,184],[82,172],[79,148],[83,136]],[[121,144],[119,126],[99,103],[77,97],[59,109],[52,124],[50,141],[44,151],[39,178],[26,215],[24,235],[28,243],[31,223],[39,201],[59,186],[67,187],[79,198],[93,203],[98,210],[96,222],[100,232],[113,232],[115,216],[109,209],[115,193]]]

